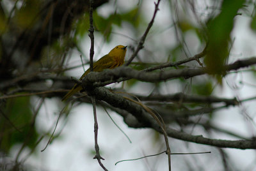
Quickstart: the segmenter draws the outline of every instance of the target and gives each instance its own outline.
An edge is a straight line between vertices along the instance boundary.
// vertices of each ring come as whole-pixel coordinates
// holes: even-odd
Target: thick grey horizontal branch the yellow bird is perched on
[[[225,71],[238,70],[239,68],[244,68],[256,64],[256,57],[250,59],[244,59],[236,61],[233,64],[228,64],[225,66]],[[195,77],[198,75],[204,75],[207,73],[207,68],[198,68],[198,69],[183,69],[183,70],[168,70],[168,71],[158,71],[158,72],[146,72],[134,70],[128,66],[121,66],[113,70],[107,70],[100,73],[89,73],[84,77],[83,82],[94,82],[93,86],[104,86],[111,84],[113,82],[121,82],[131,78],[143,82],[161,82],[170,80],[172,78],[179,77]],[[111,80],[111,81],[109,81]],[[102,83],[105,82],[106,83]],[[98,82],[98,83],[95,83]],[[100,82],[100,83],[99,83]]]

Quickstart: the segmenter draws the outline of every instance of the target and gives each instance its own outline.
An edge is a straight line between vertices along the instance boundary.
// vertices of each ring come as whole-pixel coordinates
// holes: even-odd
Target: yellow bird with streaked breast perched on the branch
[[[127,46],[126,46],[127,47]],[[124,64],[124,57],[126,53],[126,47],[118,45],[113,48],[106,56],[101,57],[97,62],[93,63],[93,71],[101,72],[105,69],[113,69]],[[85,75],[90,73],[90,68],[84,72],[79,80],[82,80]],[[61,101],[67,100],[73,94],[81,91],[83,87],[75,84],[74,87],[68,91]]]

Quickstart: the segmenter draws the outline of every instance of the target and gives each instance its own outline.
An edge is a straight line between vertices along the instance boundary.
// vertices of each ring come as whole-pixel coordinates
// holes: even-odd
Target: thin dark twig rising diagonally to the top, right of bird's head
[[[158,0],[157,3],[155,3],[154,15],[153,15],[151,21],[148,23],[148,27],[147,27],[145,33],[144,33],[143,36],[140,38],[139,44],[138,44],[138,46],[137,46],[135,52],[132,54],[132,56],[131,56],[130,59],[127,61],[127,63],[125,64],[125,66],[128,66],[128,65],[132,62],[132,60],[138,55],[138,52],[141,50],[141,48],[143,48],[143,44],[144,44],[144,42],[145,42],[145,40],[146,40],[147,34],[148,34],[150,28],[153,26],[154,19],[155,19],[155,17],[156,17],[156,13],[157,13],[157,11],[159,10],[158,6],[159,6],[160,1],[161,1],[161,0]]]

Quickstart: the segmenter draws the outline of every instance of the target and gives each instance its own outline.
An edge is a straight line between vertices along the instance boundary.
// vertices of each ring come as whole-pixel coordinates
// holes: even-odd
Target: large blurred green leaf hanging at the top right
[[[221,5],[221,12],[214,19],[208,21],[208,48],[205,64],[209,73],[218,74],[218,81],[221,82],[220,75],[223,74],[229,53],[230,33],[234,26],[234,18],[237,11],[243,7],[245,1],[225,0]]]

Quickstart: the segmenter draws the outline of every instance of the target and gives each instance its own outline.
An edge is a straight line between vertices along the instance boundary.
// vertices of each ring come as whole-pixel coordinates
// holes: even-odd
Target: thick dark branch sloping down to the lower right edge
[[[154,119],[152,119],[152,117],[150,117],[150,115],[145,112],[145,110],[141,108],[140,105],[132,103],[132,101],[125,100],[125,98],[120,96],[120,94],[112,93],[104,87],[95,88],[93,91],[90,91],[89,94],[95,96],[97,100],[106,101],[113,107],[117,107],[131,113],[134,117],[136,117],[136,119],[138,119],[141,124],[143,124],[143,127],[153,128],[154,130],[162,133],[161,128],[156,123],[156,121],[154,121]],[[122,110],[119,112],[122,112]],[[173,130],[172,128],[167,128],[167,133],[170,137],[186,140],[188,142],[195,142],[198,144],[237,149],[256,149],[256,142],[253,140],[216,140],[202,137],[202,135],[189,135],[188,133],[179,132],[177,130]]]

